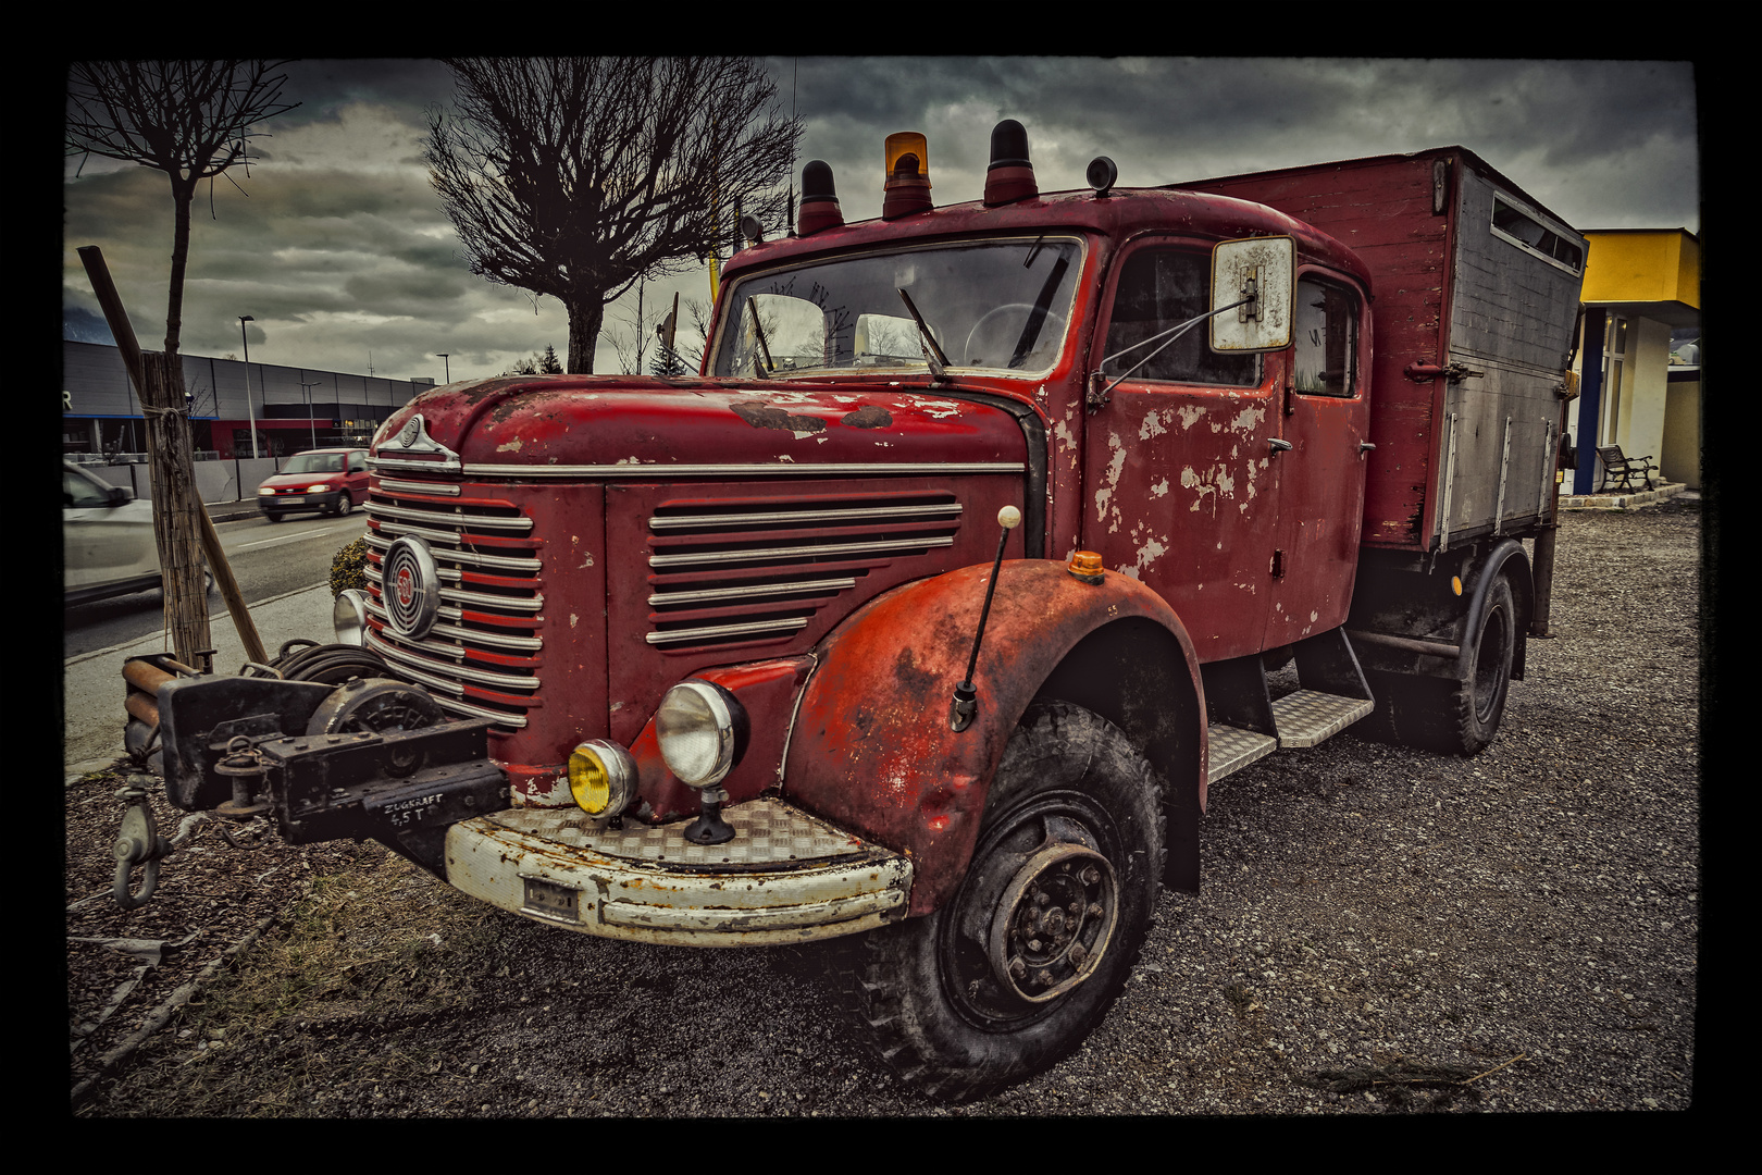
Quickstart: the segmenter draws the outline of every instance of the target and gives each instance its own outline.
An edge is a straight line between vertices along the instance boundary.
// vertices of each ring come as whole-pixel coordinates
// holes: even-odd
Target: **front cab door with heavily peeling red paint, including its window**
[[[1084,546],[1163,595],[1205,662],[1262,648],[1283,426],[1277,363],[1214,354],[1203,322],[1147,342],[1203,314],[1209,289],[1205,243],[1152,238],[1122,254],[1089,370],[1126,379],[1084,433]]]

